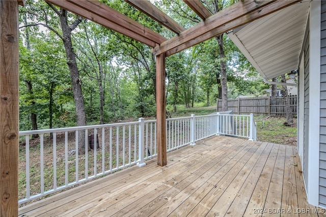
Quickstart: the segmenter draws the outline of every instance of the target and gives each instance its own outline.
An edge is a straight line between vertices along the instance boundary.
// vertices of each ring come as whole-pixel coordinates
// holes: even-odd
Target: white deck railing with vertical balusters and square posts
[[[195,145],[216,134],[256,140],[252,114],[171,118],[166,130],[167,151]],[[81,131],[85,144],[90,138],[94,146],[78,154]],[[31,139],[33,134],[39,139]],[[129,123],[20,131],[19,135],[19,192],[25,192],[19,195],[19,204],[134,164],[145,166],[146,159],[157,155],[156,120],[144,118]]]

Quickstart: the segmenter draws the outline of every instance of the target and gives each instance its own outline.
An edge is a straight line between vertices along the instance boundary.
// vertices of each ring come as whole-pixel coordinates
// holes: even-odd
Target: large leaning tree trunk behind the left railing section
[[[71,26],[68,25],[67,11],[60,9],[60,24],[62,28],[63,44],[65,46],[67,64],[70,71],[73,98],[76,106],[77,126],[86,126],[85,105],[82,91],[82,81],[79,78],[79,71],[76,63],[76,54],[72,47]],[[88,145],[85,144],[85,130],[78,131],[78,153],[85,154]],[[89,150],[89,147],[88,147]]]

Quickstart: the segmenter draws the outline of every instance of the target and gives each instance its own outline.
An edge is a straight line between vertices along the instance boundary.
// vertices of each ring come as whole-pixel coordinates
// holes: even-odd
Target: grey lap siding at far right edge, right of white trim
[[[321,2],[319,205],[326,207],[326,1]]]

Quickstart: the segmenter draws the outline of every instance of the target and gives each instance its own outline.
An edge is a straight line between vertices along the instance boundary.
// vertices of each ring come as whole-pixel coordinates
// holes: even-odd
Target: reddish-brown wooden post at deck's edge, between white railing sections
[[[157,164],[167,165],[165,53],[156,56],[156,137]]]

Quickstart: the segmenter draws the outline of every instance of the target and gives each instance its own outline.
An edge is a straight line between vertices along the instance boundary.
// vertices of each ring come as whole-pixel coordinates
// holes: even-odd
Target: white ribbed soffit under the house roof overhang
[[[228,36],[266,79],[298,68],[309,1],[234,29]]]

